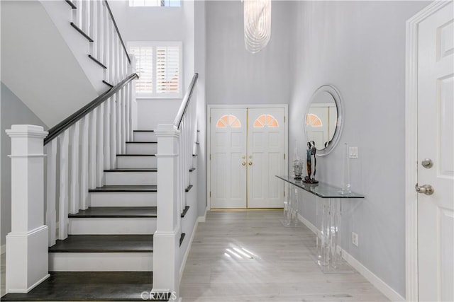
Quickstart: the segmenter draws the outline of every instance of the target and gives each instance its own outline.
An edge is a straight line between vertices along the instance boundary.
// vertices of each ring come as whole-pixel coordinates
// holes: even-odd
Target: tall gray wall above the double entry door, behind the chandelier
[[[289,103],[293,6],[292,1],[273,1],[271,40],[250,54],[243,40],[243,3],[206,1],[206,103]]]

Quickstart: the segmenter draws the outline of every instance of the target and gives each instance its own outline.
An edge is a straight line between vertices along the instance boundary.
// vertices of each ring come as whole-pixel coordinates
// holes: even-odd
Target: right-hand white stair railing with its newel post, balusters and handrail
[[[179,296],[179,238],[196,143],[194,74],[173,124],[159,124],[157,137],[157,228],[153,236],[153,292]]]

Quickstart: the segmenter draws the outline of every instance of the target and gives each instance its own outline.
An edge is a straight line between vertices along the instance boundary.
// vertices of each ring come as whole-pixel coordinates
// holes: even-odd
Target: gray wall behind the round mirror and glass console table
[[[405,296],[405,21],[423,1],[301,1],[297,3],[295,85],[289,150],[304,151],[304,112],[323,84],[336,86],[345,120],[338,147],[317,161],[319,179],[342,182],[342,145],[358,146],[350,160],[352,190],[365,199],[343,202],[342,246]],[[291,154],[293,156],[293,154]],[[315,221],[314,202],[301,214]],[[358,247],[351,232],[358,233]]]

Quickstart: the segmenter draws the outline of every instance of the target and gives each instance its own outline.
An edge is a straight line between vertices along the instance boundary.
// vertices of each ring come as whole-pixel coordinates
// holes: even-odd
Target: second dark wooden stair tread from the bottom
[[[153,235],[69,235],[49,252],[153,252]]]

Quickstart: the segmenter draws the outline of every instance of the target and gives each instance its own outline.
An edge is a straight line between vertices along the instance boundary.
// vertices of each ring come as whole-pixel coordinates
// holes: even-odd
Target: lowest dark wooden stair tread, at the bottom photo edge
[[[143,301],[152,289],[152,272],[50,272],[28,293],[6,294],[1,301]],[[157,295],[155,295],[157,297]],[[147,301],[168,301],[160,299]]]

